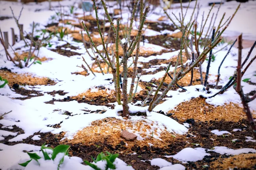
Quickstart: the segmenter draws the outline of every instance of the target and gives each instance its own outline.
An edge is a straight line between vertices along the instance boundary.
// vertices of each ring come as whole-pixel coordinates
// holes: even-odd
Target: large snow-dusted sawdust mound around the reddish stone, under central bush
[[[175,134],[174,136],[173,133],[167,132],[166,130],[162,130],[160,134],[160,129],[152,128],[154,125],[157,125],[157,122],[147,122],[144,120],[133,122],[129,119],[119,120],[116,118],[105,118],[92,122],[90,126],[77,132],[77,134],[74,136],[74,139],[65,140],[64,143],[82,143],[91,145],[96,142],[105,140],[112,146],[119,145],[123,141],[126,143],[126,149],[131,149],[134,146],[151,145],[164,148],[167,145],[174,143],[175,141],[177,142],[178,140],[185,138],[185,136],[178,134]],[[137,139],[128,141],[120,137],[121,131],[127,129],[129,129],[129,131],[132,133],[135,133],[138,136]],[[160,137],[160,139],[158,137]],[[144,139],[141,140],[142,138]]]

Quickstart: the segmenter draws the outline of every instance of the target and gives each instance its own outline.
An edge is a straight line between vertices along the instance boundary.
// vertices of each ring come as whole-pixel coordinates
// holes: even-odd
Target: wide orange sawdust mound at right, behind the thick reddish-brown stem
[[[246,118],[243,108],[239,107],[238,104],[230,102],[223,106],[215,107],[214,105],[206,103],[205,98],[202,97],[182,102],[168,113],[173,114],[173,117],[180,120],[193,118],[201,121],[239,121]]]

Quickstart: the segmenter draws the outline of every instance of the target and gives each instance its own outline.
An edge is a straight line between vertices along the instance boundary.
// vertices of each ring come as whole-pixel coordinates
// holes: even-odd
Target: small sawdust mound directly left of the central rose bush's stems
[[[104,87],[103,87],[104,88]],[[113,90],[101,89],[92,91],[91,89],[85,93],[70,97],[78,103],[88,103],[90,105],[106,106],[108,103],[116,102],[116,93]]]

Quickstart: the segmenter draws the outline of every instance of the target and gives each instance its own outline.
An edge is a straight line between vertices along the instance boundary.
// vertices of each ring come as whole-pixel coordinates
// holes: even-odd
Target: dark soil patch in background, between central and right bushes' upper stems
[[[145,37],[150,44],[159,45],[167,49],[175,49],[172,51],[179,50],[181,48],[181,40],[177,38],[168,37],[167,35],[159,35],[152,37]],[[141,39],[142,41],[142,39]]]

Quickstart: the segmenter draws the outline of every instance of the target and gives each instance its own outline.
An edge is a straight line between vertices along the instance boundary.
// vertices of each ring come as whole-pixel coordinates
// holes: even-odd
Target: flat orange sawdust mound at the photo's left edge
[[[35,86],[35,85],[54,85],[56,84],[54,80],[51,80],[47,77],[35,77],[29,73],[24,74],[18,74],[14,72],[10,72],[6,69],[0,70],[0,76],[3,79],[8,80],[8,85],[10,88],[12,88],[13,84],[17,83],[19,85],[29,85],[29,86]]]

